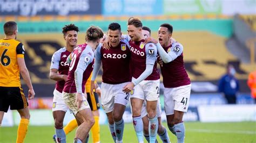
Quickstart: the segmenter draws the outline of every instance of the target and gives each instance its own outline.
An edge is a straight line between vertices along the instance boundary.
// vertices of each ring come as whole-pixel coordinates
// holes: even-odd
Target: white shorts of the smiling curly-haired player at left
[[[65,104],[62,97],[62,93],[54,89],[53,91],[53,101],[52,101],[52,111],[68,111],[69,107]]]

